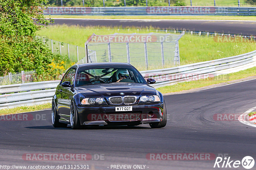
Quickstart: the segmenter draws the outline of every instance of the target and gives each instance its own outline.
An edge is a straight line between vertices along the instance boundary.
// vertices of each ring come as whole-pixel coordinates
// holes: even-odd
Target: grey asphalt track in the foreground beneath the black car
[[[213,115],[237,114],[256,106],[256,80],[164,96],[167,126],[151,129],[112,126],[72,130],[53,128],[51,111],[32,112],[31,121],[0,121],[0,162],[5,165],[89,165],[107,170],[113,164],[146,165],[148,170],[218,169],[215,160],[148,160],[148,153],[228,154],[230,160],[256,158],[256,129],[239,121],[217,121]],[[42,117],[46,117],[45,119]],[[39,118],[38,118],[39,117]],[[26,153],[104,154],[104,160],[23,160]],[[93,156],[94,158],[94,156]],[[109,168],[108,168],[109,167]],[[113,169],[113,168],[112,168]],[[223,169],[223,168],[222,168]],[[228,168],[234,169],[234,168]],[[240,165],[239,168],[243,169]]]

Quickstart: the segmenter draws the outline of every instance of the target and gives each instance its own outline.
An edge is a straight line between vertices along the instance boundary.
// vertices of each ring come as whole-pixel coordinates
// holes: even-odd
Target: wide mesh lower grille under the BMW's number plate
[[[141,112],[107,113],[109,121],[135,121],[141,117]]]

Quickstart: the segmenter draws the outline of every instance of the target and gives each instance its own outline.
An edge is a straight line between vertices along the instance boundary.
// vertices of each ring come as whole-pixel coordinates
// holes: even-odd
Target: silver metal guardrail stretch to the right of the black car
[[[256,50],[223,59],[204,61],[172,68],[141,71],[140,73],[143,75],[144,78],[151,77],[155,79],[157,83],[153,84],[153,87],[158,88],[162,86],[172,85],[173,83],[177,82],[190,81],[195,79],[214,77],[220,74],[226,74],[226,71],[228,71],[228,69],[232,69],[232,72],[236,72],[234,68],[240,66],[244,66],[244,69],[247,69],[256,66],[256,63],[255,65],[252,64],[255,61]]]

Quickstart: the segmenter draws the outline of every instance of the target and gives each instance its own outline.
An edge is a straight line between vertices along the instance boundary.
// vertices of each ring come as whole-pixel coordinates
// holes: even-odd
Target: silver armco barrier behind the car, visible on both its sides
[[[204,61],[172,68],[140,71],[145,79],[156,80],[155,88],[178,82],[205,78],[204,75],[234,73],[256,66],[256,50],[223,59]],[[0,109],[21,105],[49,103],[60,81],[41,81],[34,83],[0,86]],[[32,90],[32,91],[31,91]],[[13,93],[14,92],[14,93]],[[19,92],[19,93],[17,93]]]

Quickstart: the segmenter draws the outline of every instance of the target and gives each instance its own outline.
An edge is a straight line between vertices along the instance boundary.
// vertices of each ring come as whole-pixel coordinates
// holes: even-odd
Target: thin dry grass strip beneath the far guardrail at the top
[[[95,15],[45,15],[46,18],[97,18],[97,19],[211,19],[211,20],[255,20],[255,16],[222,16],[222,15],[136,15],[136,16],[95,16]]]

